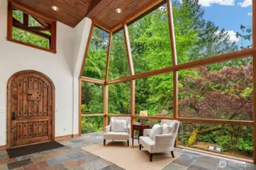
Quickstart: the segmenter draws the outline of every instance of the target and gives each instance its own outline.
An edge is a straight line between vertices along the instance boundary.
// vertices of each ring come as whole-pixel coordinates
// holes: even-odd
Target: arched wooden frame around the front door
[[[47,79],[52,86],[52,141],[55,141],[55,85],[53,84],[52,80],[49,79],[48,76],[46,76],[43,73],[40,73],[36,70],[22,70],[17,73],[14,73],[7,82],[7,94],[6,94],[6,149],[11,148],[11,108],[9,105],[9,101],[11,100],[11,97],[9,97],[9,87],[11,87],[11,82],[13,79],[15,79],[17,76],[20,76],[22,74],[27,73],[36,73],[40,76],[43,76],[45,79]],[[36,144],[36,143],[35,143]],[[21,147],[21,146],[18,146]]]

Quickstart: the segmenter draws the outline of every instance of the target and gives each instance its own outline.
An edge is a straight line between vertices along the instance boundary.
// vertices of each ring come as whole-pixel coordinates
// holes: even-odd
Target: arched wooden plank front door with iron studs
[[[43,73],[24,70],[8,81],[7,148],[54,140],[55,88]]]

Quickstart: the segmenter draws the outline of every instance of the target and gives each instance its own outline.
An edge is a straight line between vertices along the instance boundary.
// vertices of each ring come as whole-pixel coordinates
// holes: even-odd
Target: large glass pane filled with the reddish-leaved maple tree
[[[252,120],[251,57],[179,71],[179,116]]]

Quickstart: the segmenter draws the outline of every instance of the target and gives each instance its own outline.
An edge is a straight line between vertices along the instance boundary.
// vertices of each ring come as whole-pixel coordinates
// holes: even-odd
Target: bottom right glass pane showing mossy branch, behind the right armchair
[[[252,159],[254,152],[253,127],[246,125],[220,125],[182,122],[183,134],[179,134],[179,145]]]

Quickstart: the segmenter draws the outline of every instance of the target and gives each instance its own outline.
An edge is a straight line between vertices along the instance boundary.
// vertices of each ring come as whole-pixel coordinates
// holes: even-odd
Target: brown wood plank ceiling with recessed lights
[[[132,14],[138,12],[156,0],[9,0],[33,8],[68,26],[74,27],[84,17],[90,17],[106,28],[118,26]],[[59,11],[52,11],[52,6]],[[121,8],[122,13],[117,14],[115,9]]]

